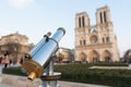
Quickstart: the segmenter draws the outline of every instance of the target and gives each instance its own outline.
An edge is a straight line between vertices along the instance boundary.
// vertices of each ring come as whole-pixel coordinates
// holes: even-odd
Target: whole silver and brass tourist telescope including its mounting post
[[[51,38],[49,38],[51,33],[48,33],[28,54],[25,54],[22,69],[26,71],[28,80],[32,82],[34,78],[40,77],[43,80],[47,80],[47,83],[44,82],[45,86],[40,87],[47,87],[47,85],[57,87],[57,79],[61,73],[53,72],[53,59],[59,48],[58,42],[64,34],[66,30],[62,27],[58,28]]]

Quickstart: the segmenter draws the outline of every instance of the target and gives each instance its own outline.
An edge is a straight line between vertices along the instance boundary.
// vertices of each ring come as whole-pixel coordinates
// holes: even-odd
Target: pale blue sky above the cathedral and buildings
[[[67,30],[60,47],[74,48],[75,14],[86,12],[96,25],[96,9],[108,5],[120,55],[131,49],[131,0],[0,0],[0,37],[19,32],[37,44],[47,32]]]

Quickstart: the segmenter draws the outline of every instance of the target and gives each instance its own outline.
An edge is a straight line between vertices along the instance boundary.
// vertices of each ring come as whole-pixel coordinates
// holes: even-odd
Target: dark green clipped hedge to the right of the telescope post
[[[131,70],[94,70],[88,66],[92,64],[57,65],[55,71],[61,72],[61,80],[115,87],[131,86]]]

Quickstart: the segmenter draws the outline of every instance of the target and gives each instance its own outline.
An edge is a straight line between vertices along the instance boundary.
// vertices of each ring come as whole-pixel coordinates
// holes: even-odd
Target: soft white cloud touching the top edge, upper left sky
[[[9,5],[23,9],[35,3],[35,0],[9,0]]]

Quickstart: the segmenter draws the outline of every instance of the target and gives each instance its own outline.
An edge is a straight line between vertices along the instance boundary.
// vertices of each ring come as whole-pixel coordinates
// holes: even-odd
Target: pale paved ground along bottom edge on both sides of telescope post
[[[60,87],[109,87],[100,85],[81,84],[81,83],[70,83],[70,82],[58,82]],[[39,87],[41,80],[36,78],[33,83],[28,82],[26,77],[15,76],[15,75],[0,75],[0,87]]]

